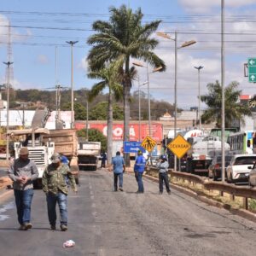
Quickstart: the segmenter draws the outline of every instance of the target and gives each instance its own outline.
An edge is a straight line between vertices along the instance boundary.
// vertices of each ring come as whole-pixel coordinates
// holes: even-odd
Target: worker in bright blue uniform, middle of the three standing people
[[[144,172],[145,166],[146,166],[146,160],[143,156],[143,151],[138,150],[137,158],[136,158],[135,164],[134,164],[134,173],[135,173],[135,177],[136,177],[137,185],[138,185],[138,189],[137,189],[138,194],[144,193],[143,172]]]

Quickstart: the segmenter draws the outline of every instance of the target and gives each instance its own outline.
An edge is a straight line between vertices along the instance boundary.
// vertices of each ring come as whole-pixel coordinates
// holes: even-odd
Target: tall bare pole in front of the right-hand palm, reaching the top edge
[[[221,180],[225,181],[224,0],[221,0]]]

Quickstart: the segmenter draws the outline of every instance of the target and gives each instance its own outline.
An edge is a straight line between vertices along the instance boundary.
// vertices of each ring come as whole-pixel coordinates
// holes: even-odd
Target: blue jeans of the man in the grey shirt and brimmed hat
[[[15,203],[20,225],[30,222],[33,189],[15,189]]]

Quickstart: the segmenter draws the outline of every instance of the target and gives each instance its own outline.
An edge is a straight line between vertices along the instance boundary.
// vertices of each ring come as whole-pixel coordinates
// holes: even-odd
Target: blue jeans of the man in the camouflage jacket
[[[56,195],[53,193],[48,193],[46,195],[47,209],[49,224],[55,226],[56,224],[56,203],[58,203],[61,215],[61,224],[67,225],[67,195],[58,192]]]

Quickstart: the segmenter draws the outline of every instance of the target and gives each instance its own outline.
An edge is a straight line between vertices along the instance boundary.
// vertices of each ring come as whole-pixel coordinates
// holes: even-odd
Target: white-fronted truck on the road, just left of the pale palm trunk
[[[79,137],[78,158],[79,169],[84,171],[96,171],[98,160],[101,157],[101,143],[87,142],[84,137]]]

